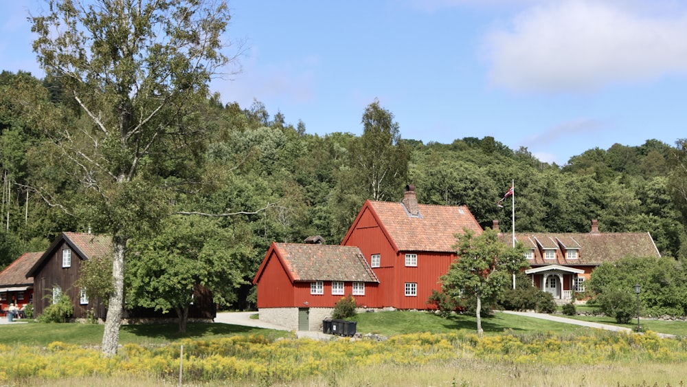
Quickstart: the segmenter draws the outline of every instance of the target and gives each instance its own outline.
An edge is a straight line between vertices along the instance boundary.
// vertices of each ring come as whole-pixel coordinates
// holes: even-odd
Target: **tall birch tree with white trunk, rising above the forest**
[[[196,106],[229,62],[225,1],[49,0],[30,18],[34,51],[80,108],[46,128],[87,195],[94,228],[112,236],[113,294],[102,353],[117,351],[126,246],[169,212],[165,181],[190,179],[203,155]],[[37,191],[40,191],[36,188]],[[47,199],[47,192],[41,192]],[[76,208],[63,207],[74,214]]]

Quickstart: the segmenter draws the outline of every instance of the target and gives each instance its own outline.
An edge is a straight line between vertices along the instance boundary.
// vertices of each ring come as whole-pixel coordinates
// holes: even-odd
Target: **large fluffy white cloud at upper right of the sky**
[[[492,84],[556,93],[687,74],[687,13],[630,4],[547,1],[521,12],[486,36]]]

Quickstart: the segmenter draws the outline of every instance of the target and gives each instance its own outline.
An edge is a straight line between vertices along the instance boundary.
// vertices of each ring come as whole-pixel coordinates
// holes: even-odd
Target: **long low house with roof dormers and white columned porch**
[[[498,221],[493,228],[499,229]],[[499,233],[499,239],[512,245],[513,234]],[[648,232],[602,233],[596,220],[588,233],[516,232],[515,239],[525,245],[530,263],[525,273],[532,285],[560,302],[570,302],[576,292],[585,291],[585,280],[604,262],[625,256],[661,256]]]

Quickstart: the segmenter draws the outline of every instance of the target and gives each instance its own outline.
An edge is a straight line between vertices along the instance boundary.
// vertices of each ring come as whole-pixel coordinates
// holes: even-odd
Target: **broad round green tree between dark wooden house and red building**
[[[159,234],[132,242],[138,256],[127,267],[128,302],[176,312],[180,333],[186,331],[194,294],[205,289],[214,303],[227,305],[244,283],[240,257],[248,255],[248,247],[218,227],[217,219],[168,217]]]

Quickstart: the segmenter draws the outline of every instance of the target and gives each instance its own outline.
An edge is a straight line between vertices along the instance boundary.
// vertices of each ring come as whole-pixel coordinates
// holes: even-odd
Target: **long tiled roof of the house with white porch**
[[[510,233],[500,233],[499,239],[512,245]],[[651,234],[648,232],[609,232],[609,233],[554,233],[554,232],[516,232],[515,239],[522,241],[526,249],[534,248],[534,259],[530,265],[600,265],[617,261],[624,256],[660,256]],[[532,246],[530,241],[559,241],[556,243],[556,259],[544,260],[543,250]],[[570,245],[568,245],[570,243]],[[544,247],[549,247],[546,243]],[[577,259],[567,259],[565,249],[577,250]]]

